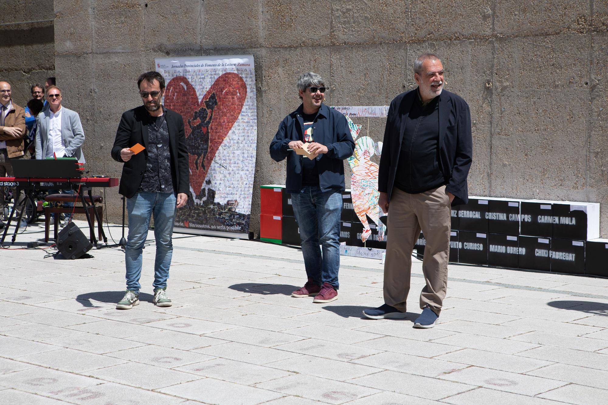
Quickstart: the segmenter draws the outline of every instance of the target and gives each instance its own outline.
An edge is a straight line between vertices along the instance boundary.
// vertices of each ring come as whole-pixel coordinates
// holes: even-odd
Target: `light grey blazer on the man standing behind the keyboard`
[[[61,137],[66,145],[66,156],[73,156],[78,162],[85,163],[85,155],[81,146],[85,142],[85,131],[82,130],[78,112],[61,107]],[[50,109],[45,109],[36,116],[36,159],[44,159],[47,148],[53,145],[49,142]]]

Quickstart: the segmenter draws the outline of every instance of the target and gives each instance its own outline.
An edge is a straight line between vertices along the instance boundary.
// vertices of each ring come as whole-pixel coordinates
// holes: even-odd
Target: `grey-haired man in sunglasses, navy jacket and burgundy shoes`
[[[313,302],[324,303],[337,299],[343,161],[353,154],[354,141],[344,115],[323,105],[322,77],[300,75],[297,87],[302,104],[279,125],[270,155],[277,162],[287,157],[286,191],[291,193],[308,276],[291,296],[314,296]],[[296,153],[305,144],[313,159]]]

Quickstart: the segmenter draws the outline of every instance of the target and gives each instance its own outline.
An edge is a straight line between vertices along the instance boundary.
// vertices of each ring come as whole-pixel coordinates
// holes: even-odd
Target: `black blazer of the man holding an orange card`
[[[163,108],[165,108],[163,106]],[[190,195],[190,167],[188,165],[188,148],[184,134],[184,120],[175,111],[167,111],[167,129],[169,130],[169,151],[171,153],[171,177],[173,178],[174,194]],[[143,105],[130,109],[122,114],[116,139],[112,147],[112,159],[124,163],[120,176],[119,193],[131,198],[142,184],[143,172],[146,170],[148,159],[148,111]],[[134,154],[126,162],[120,157],[123,148],[142,144],[145,149]]]

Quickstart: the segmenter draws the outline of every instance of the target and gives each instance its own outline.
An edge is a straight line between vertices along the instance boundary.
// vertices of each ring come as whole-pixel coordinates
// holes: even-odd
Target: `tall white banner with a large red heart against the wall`
[[[176,232],[248,237],[257,112],[253,55],[156,58],[164,106],[184,118],[190,162],[187,206]]]

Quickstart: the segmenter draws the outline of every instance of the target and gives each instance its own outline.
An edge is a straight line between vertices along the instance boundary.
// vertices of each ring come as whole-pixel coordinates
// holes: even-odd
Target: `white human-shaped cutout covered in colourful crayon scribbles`
[[[355,125],[353,121],[346,117],[350,133],[354,139],[354,153],[349,157],[348,165],[353,170],[350,178],[351,196],[353,198],[353,209],[359,221],[363,224],[361,241],[365,242],[371,235],[370,224],[367,216],[371,218],[378,228],[378,240],[384,240],[386,226],[380,220],[386,214],[378,206],[378,164],[370,160],[375,154],[380,156],[382,153],[382,142],[374,142],[371,137],[359,137],[361,125]],[[367,215],[367,216],[366,216]]]

